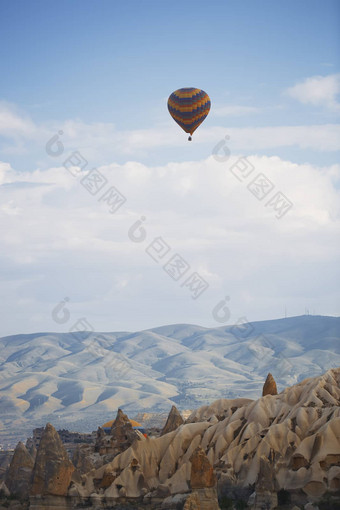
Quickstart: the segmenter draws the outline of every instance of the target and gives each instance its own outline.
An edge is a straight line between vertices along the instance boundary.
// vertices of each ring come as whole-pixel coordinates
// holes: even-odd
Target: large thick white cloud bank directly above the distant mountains
[[[63,167],[17,173],[0,165],[0,335],[57,330],[51,309],[65,296],[73,322],[87,317],[97,330],[213,325],[211,310],[226,295],[231,321],[272,318],[285,304],[291,314],[311,303],[334,313],[340,166],[249,156],[255,170],[240,182],[229,170],[236,160],[102,166],[106,186],[127,198],[113,215],[99,200],[106,187],[91,195]],[[263,200],[247,187],[259,173],[274,185]],[[280,220],[266,206],[277,191],[294,204]],[[146,239],[134,243],[128,230],[141,216]],[[170,252],[157,263],[145,250],[159,236]],[[198,300],[181,286],[184,278],[163,270],[175,253],[209,282]]]

